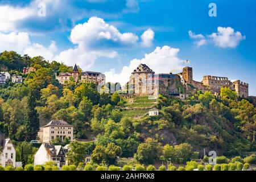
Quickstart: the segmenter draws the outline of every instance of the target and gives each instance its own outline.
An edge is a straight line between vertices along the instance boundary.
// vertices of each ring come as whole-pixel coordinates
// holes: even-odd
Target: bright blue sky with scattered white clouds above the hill
[[[39,17],[41,2],[46,16]],[[216,17],[208,15],[211,2]],[[157,72],[179,72],[189,59],[195,80],[240,79],[256,95],[253,0],[2,0],[0,10],[0,51],[41,52],[49,60],[106,73],[111,81],[125,80],[140,62]]]

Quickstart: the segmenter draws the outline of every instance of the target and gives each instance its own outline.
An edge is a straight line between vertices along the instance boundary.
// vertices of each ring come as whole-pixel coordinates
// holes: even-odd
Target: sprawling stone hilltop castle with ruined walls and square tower
[[[164,94],[170,96],[184,96],[193,90],[209,90],[216,96],[220,94],[220,89],[228,87],[237,92],[237,96],[248,97],[249,84],[245,82],[230,81],[227,77],[204,76],[203,81],[193,80],[193,69],[183,68],[178,74],[159,73],[155,74],[146,64],[140,64],[131,73],[130,93],[137,96],[154,94]]]

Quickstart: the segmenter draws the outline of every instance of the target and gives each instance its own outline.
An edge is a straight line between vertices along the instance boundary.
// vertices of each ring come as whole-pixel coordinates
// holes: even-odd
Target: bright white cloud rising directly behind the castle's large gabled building
[[[121,73],[105,72],[106,81],[119,82],[121,85],[125,85],[129,81],[131,72],[141,63],[148,65],[155,73],[170,73],[172,69],[179,70],[183,64],[183,60],[177,57],[179,51],[178,48],[169,46],[156,47],[153,52],[146,54],[143,59],[131,60],[130,65],[123,67]]]

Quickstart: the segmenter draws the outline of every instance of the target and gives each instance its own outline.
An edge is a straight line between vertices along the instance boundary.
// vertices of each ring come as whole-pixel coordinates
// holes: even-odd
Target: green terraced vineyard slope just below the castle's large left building
[[[125,100],[127,104],[122,108],[123,115],[133,118],[141,118],[148,109],[156,106],[156,100],[148,100],[148,97],[134,97]]]

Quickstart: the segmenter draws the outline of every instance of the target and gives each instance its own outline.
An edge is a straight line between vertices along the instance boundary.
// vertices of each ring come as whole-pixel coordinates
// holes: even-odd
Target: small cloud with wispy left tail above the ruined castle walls
[[[235,32],[231,27],[218,27],[218,32],[207,35],[207,38],[202,34],[195,34],[192,31],[189,31],[188,34],[191,39],[196,40],[195,44],[197,46],[213,43],[215,46],[221,48],[235,48],[246,38],[242,36],[241,32]]]

